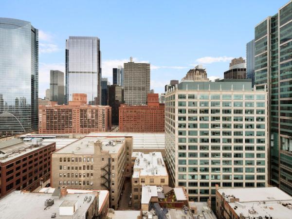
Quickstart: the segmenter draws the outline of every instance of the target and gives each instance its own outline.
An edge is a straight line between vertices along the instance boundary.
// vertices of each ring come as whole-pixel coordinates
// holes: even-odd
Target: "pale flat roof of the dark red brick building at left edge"
[[[0,163],[13,160],[50,144],[52,143],[42,143],[39,139],[24,142],[17,138],[0,142]]]

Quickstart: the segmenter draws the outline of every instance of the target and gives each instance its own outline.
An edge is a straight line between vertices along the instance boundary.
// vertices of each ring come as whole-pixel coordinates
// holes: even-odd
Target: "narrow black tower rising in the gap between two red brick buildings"
[[[119,85],[109,86],[109,106],[111,107],[111,124],[119,125],[119,107],[124,103],[124,88]]]

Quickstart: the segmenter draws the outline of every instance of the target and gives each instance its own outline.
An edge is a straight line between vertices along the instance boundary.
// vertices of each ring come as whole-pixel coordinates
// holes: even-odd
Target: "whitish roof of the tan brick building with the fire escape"
[[[63,148],[55,151],[57,154],[76,154],[93,155],[94,143],[101,141],[102,150],[109,151],[110,154],[116,154],[123,146],[125,138],[122,137],[83,137]]]

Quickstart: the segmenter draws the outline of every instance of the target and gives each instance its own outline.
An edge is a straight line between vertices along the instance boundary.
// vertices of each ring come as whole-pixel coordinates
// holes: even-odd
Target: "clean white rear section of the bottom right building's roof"
[[[235,196],[240,202],[248,201],[275,201],[292,200],[292,197],[277,187],[218,189],[218,192],[226,196]]]

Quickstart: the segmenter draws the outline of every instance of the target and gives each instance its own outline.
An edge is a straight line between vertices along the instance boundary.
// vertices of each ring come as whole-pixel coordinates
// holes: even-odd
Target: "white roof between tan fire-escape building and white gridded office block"
[[[140,176],[168,175],[161,152],[150,152],[148,154],[133,152],[132,157],[136,157],[133,178],[137,176],[136,172],[140,172]]]

